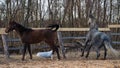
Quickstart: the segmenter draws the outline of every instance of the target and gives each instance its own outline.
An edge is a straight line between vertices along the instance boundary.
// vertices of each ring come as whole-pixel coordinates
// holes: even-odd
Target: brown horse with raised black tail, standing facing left
[[[22,43],[24,44],[22,60],[24,60],[26,49],[28,49],[30,59],[32,59],[30,44],[40,43],[41,41],[46,42],[53,50],[53,53],[56,52],[58,59],[60,59],[58,47],[55,46],[56,31],[59,28],[59,25],[53,24],[48,27],[50,27],[51,29],[33,30],[31,28],[26,28],[21,24],[16,23],[15,21],[10,21],[5,32],[8,33],[15,30],[16,33],[19,35]],[[53,28],[55,29],[53,30]]]

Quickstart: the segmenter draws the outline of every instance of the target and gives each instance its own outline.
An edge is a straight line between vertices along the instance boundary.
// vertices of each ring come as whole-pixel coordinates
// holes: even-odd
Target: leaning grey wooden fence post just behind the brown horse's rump
[[[60,49],[61,49],[63,58],[66,58],[66,56],[65,56],[65,48],[64,48],[63,41],[62,41],[61,32],[58,31],[58,32],[57,32],[57,36],[58,36],[58,42],[59,42],[59,44],[60,44]]]

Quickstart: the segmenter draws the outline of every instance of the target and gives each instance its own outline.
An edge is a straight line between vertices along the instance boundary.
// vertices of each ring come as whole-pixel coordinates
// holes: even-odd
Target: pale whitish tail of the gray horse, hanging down
[[[115,50],[115,49],[112,47],[112,45],[110,44],[110,42],[104,41],[104,45],[105,45],[106,49],[108,50],[108,52],[109,52],[109,51],[112,52],[111,54],[114,54],[115,57],[118,57],[118,56],[119,56],[118,51]]]

